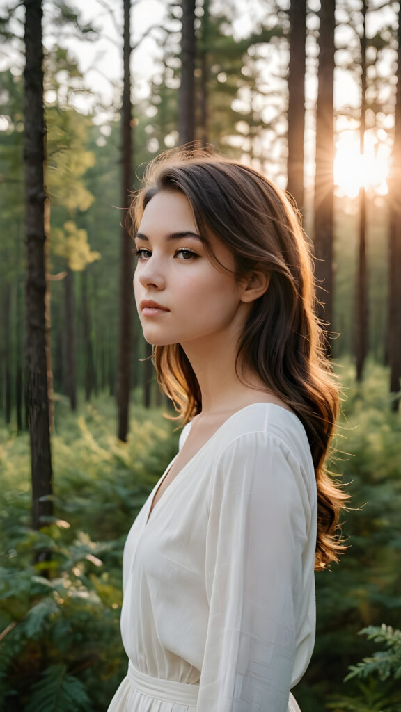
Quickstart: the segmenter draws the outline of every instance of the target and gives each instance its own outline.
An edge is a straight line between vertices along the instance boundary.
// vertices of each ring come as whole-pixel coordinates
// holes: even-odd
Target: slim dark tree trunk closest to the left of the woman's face
[[[128,192],[131,190],[131,42],[130,4],[123,0],[124,45],[123,45],[123,108],[122,108],[122,181],[121,207],[123,220],[121,229],[121,289],[120,289],[120,351],[118,363],[118,439],[126,442],[128,433],[128,409],[131,375],[131,303],[132,303],[132,253],[131,238],[125,228]]]

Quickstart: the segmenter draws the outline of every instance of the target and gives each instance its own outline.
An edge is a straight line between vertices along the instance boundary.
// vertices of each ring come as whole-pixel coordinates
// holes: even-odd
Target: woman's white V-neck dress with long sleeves
[[[160,482],[126,540],[129,665],[108,712],[299,710],[290,688],[315,639],[317,524],[300,420],[274,404],[241,409],[149,517]]]

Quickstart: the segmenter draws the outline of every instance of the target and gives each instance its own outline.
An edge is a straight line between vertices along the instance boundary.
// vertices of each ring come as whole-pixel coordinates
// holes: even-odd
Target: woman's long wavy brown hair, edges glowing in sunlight
[[[315,568],[322,569],[345,548],[338,525],[347,496],[324,467],[339,414],[339,389],[315,314],[313,259],[298,215],[287,195],[263,175],[219,155],[158,157],[128,219],[138,226],[146,205],[162,190],[186,195],[206,244],[211,233],[230,248],[237,278],[255,270],[270,275],[268,290],[250,310],[238,357],[305,427],[318,488]],[[154,360],[158,382],[185,424],[202,407],[191,363],[179,344],[156,346]]]

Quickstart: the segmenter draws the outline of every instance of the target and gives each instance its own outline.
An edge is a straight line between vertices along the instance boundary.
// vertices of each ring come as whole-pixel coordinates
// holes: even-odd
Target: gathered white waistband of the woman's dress
[[[128,679],[138,692],[142,692],[145,695],[156,697],[156,699],[165,702],[196,707],[199,685],[188,685],[183,682],[152,677],[136,670],[131,661],[128,664]]]

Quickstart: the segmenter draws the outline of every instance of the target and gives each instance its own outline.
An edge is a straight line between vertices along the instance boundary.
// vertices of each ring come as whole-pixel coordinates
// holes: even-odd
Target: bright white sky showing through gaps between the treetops
[[[0,0],[0,13],[9,5],[11,0]],[[68,1],[68,0],[67,0]],[[381,4],[382,0],[370,0],[370,6]],[[98,28],[99,37],[96,41],[81,41],[73,38],[64,30],[61,36],[51,36],[49,23],[46,23],[46,15],[49,13],[52,0],[44,0],[44,42],[47,47],[59,42],[61,46],[66,46],[71,50],[74,56],[78,58],[78,65],[84,73],[84,83],[86,87],[95,95],[101,97],[104,105],[114,105],[119,107],[121,103],[121,81],[123,75],[122,67],[122,28],[123,28],[123,0],[69,0],[69,4],[80,12],[83,23],[92,23]],[[280,0],[283,8],[287,7],[289,0]],[[163,33],[160,26],[166,26],[166,9],[168,6],[167,0],[132,0],[131,9],[131,37],[133,47],[139,42],[138,47],[132,53],[132,69],[133,69],[133,85],[137,98],[146,96],[148,93],[148,80],[156,71],[157,58],[161,56],[161,40]],[[234,36],[247,36],[252,31],[252,22],[264,21],[266,13],[266,4],[262,0],[231,0],[227,5],[224,0],[213,0],[213,9],[235,9],[235,18],[233,21]],[[360,8],[359,0],[346,0],[345,6]],[[320,8],[319,0],[308,0],[308,7],[311,11],[317,12]],[[316,15],[308,16],[308,27],[310,31],[318,29],[318,18]],[[390,25],[395,21],[394,9],[390,6],[384,7],[380,11],[368,14],[367,33],[372,36],[377,30],[377,26]],[[23,31],[24,8],[19,7],[15,11],[16,20],[14,30],[20,35]],[[252,22],[251,19],[252,18]],[[19,19],[19,23],[18,23]],[[345,15],[339,4],[337,8],[337,21],[344,21]],[[179,24],[179,23],[178,23]],[[179,30],[179,26],[178,26]],[[355,34],[352,34],[350,28],[340,27],[336,31],[337,61],[344,61],[344,52],[347,47],[357,41]],[[344,49],[341,49],[341,46]],[[270,49],[266,49],[270,52]],[[275,52],[275,50],[271,50]],[[340,54],[342,56],[340,57]],[[272,69],[273,73],[285,72],[283,66],[283,52],[273,55],[273,61],[268,66],[266,63],[266,71],[268,80],[271,80]],[[315,36],[308,37],[308,66],[306,76],[306,130],[305,130],[305,150],[306,155],[310,157],[310,161],[305,166],[305,183],[313,183],[313,154],[315,144],[315,97],[317,92],[317,46]],[[15,71],[19,72],[22,69],[21,56],[12,48],[4,46],[0,48],[0,69],[14,64]],[[285,59],[285,56],[284,56]],[[286,61],[286,59],[285,59]],[[19,65],[19,66],[18,66]],[[385,72],[387,72],[385,68]],[[387,85],[388,86],[388,85]],[[91,107],[96,104],[96,98],[88,98],[88,95],[76,95],[74,100],[76,108],[81,111],[91,110]],[[349,70],[343,70],[339,67],[335,70],[335,107],[338,109],[348,105],[358,108],[360,105],[360,87],[355,79],[355,74]],[[357,126],[358,126],[358,111],[355,119],[350,117],[340,117],[337,122],[337,130],[340,131],[340,145],[337,145],[337,158],[335,170],[337,180],[345,186],[346,182],[350,182],[349,188],[344,187],[344,191],[350,194],[352,190],[357,191],[357,184],[362,180],[365,174],[375,174],[380,177],[379,191],[384,192],[386,169],[388,170],[388,137],[385,136],[385,131],[382,129],[376,132],[367,139],[367,152],[372,155],[371,166],[361,164],[358,159],[359,148],[357,146]],[[96,112],[96,122],[103,123],[107,121],[107,112]],[[389,121],[388,125],[385,121]],[[382,120],[382,127],[391,129],[392,115],[388,115]],[[382,137],[380,137],[380,131]],[[278,142],[275,146],[270,147],[270,151],[276,148],[280,150]],[[387,145],[387,148],[385,147]],[[350,155],[355,154],[352,161]],[[339,156],[340,154],[340,156]],[[272,156],[273,157],[273,156]],[[378,158],[377,158],[378,157]],[[379,163],[377,163],[379,160]],[[375,161],[375,163],[373,163]],[[350,164],[354,167],[355,175],[350,174]],[[352,188],[353,186],[353,188]]]

